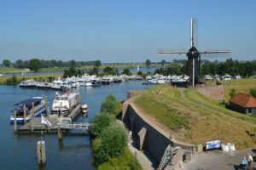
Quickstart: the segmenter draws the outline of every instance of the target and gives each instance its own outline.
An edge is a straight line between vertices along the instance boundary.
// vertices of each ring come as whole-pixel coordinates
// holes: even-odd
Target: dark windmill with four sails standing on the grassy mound
[[[158,55],[159,56],[179,56],[186,55],[187,56],[187,74],[189,76],[189,85],[193,87],[195,84],[200,82],[201,76],[201,55],[208,56],[226,56],[230,54],[230,50],[197,50],[197,19],[191,18],[191,48],[189,51],[185,50],[177,50],[170,51],[166,49],[160,49]]]

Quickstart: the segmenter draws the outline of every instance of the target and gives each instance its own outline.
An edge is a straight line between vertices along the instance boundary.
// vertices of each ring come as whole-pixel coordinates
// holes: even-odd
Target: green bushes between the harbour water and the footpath
[[[115,121],[119,111],[121,105],[110,94],[102,103],[101,113],[91,122],[94,163],[97,169],[142,169],[128,149],[125,128]]]

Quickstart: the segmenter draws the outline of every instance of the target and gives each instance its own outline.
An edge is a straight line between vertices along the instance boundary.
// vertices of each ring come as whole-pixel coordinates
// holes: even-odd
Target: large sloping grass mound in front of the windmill
[[[237,87],[245,89],[247,81],[236,83]],[[159,89],[162,94],[157,94]],[[218,101],[193,88],[179,90],[167,85],[158,86],[138,97],[135,105],[183,142],[205,144],[208,140],[220,139],[223,143],[236,144],[237,149],[256,145],[246,133],[256,133],[256,118],[227,110]]]

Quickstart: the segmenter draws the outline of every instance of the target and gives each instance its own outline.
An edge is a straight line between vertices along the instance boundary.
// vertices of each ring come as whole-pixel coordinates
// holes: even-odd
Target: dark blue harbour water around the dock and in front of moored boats
[[[122,82],[98,88],[79,88],[81,102],[89,105],[88,117],[79,116],[76,122],[89,122],[100,111],[102,101],[108,94],[124,100],[126,92],[133,89],[146,89],[152,86],[142,85],[141,81]],[[46,165],[38,166],[36,147],[40,134],[15,134],[9,124],[10,111],[14,104],[23,99],[46,95],[49,106],[55,91],[24,89],[18,86],[0,86],[0,169],[96,169],[92,164],[90,137],[64,136],[58,142],[56,134],[45,134]]]

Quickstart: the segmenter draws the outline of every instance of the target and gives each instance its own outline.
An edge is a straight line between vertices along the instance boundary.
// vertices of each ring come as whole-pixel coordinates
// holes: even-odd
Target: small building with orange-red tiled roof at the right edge
[[[244,113],[246,115],[256,115],[256,99],[247,94],[236,94],[230,99],[230,106],[234,111]]]

